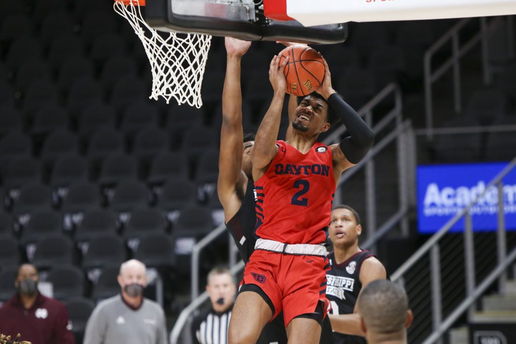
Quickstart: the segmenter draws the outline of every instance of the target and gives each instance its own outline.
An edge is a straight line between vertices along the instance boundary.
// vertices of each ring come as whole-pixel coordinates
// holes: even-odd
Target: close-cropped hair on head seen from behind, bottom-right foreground
[[[358,310],[372,333],[389,334],[405,330],[409,301],[405,290],[388,280],[377,280],[362,289]]]

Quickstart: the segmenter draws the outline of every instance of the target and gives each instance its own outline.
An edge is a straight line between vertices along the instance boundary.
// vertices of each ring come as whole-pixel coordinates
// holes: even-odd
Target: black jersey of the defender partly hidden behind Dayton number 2
[[[247,263],[251,253],[254,251],[256,236],[254,227],[256,225],[256,201],[254,196],[254,183],[251,179],[247,182],[246,193],[242,199],[240,209],[228,221],[226,227],[235,240],[240,257]]]

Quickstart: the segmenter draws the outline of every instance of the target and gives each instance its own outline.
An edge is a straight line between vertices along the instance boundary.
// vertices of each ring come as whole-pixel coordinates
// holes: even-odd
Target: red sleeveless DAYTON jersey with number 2
[[[289,244],[320,244],[326,240],[335,193],[331,149],[316,142],[302,154],[276,141],[278,154],[254,182],[256,235]]]

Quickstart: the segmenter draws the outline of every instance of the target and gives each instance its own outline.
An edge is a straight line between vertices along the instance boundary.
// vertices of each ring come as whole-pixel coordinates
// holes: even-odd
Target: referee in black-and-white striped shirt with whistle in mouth
[[[195,344],[225,344],[235,301],[236,285],[228,269],[214,268],[208,273],[206,291],[211,307],[192,321]]]

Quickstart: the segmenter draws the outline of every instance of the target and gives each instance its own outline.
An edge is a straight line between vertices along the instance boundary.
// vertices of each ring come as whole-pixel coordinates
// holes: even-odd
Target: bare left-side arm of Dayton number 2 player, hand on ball
[[[251,153],[253,170],[266,168],[270,161],[275,157],[278,148],[276,139],[280,130],[281,109],[285,97],[286,80],[283,70],[288,62],[288,58],[281,61],[281,55],[272,58],[269,69],[269,80],[274,89],[274,96],[265,117],[258,128],[254,140],[254,148]],[[256,178],[255,178],[256,180]]]

